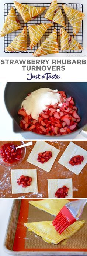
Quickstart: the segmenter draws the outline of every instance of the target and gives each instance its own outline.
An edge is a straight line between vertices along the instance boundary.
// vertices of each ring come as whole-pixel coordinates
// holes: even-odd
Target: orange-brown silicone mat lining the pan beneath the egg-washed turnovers
[[[14,251],[87,250],[87,206],[85,206],[81,216],[81,219],[86,221],[85,225],[69,239],[60,242],[58,245],[53,245],[52,243],[46,243],[40,236],[35,235],[35,233],[31,231],[29,232],[28,229],[24,226],[24,223],[53,220],[55,217],[51,216],[49,213],[35,208],[32,205],[29,205],[28,202],[28,199],[21,200],[21,208],[13,245]]]

